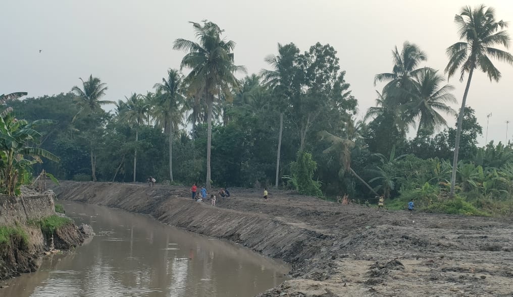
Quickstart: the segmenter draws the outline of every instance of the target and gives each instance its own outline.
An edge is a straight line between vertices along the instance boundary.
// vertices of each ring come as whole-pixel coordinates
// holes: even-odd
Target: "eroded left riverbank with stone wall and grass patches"
[[[54,196],[48,191],[0,197],[0,281],[36,271],[43,254],[84,241],[72,220],[55,213]]]

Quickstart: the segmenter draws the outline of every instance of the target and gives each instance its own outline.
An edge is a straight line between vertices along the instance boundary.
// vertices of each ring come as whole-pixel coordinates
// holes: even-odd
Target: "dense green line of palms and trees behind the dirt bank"
[[[444,71],[424,66],[427,54],[418,45],[394,48],[391,71],[374,77],[381,86],[376,106],[362,120],[329,44],[304,51],[278,44],[277,54],[265,57],[267,69],[237,79],[246,69],[234,63],[234,41],[206,20],[191,23],[196,39],[174,41],[173,49],[185,53],[180,69],[144,94],[106,100],[107,84],[91,75],[69,93],[6,104],[19,118],[54,122],[42,128],[36,146],[61,160],[34,168],[63,179],[126,182],[151,175],[315,196],[413,195],[426,207],[444,195],[512,198],[511,144],[478,148],[482,128],[466,106],[474,70],[499,81],[491,59],[513,62],[494,47],[509,46],[507,23],[495,14],[485,6],[462,8],[455,16],[461,41],[447,48]],[[446,83],[457,73],[460,80],[467,75],[459,111],[450,107],[457,99]],[[106,112],[106,104],[115,109]],[[457,118],[454,128],[447,117]],[[416,137],[407,139],[412,129]]]

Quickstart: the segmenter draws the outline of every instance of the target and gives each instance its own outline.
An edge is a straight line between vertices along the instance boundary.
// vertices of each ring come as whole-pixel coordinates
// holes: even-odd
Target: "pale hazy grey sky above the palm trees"
[[[346,81],[359,102],[361,118],[374,105],[377,73],[391,72],[391,53],[404,41],[427,53],[425,66],[447,65],[445,49],[458,41],[453,18],[463,6],[481,1],[430,0],[280,0],[280,1],[2,1],[0,11],[0,93],[26,91],[29,97],[68,92],[90,74],[107,83],[105,99],[117,101],[146,93],[180,68],[184,53],[172,49],[176,38],[193,39],[189,21],[211,20],[236,42],[236,65],[248,73],[267,68],[264,57],[276,54],[278,43],[293,42],[302,51],[318,41],[338,51]],[[513,21],[513,2],[487,1],[497,18]],[[510,30],[513,30],[513,24]],[[41,50],[41,53],[39,52]],[[513,49],[511,50],[513,51]],[[495,62],[502,79],[490,82],[476,73],[467,105],[483,126],[480,144],[513,138],[511,94],[513,67]],[[186,70],[184,70],[186,71]],[[461,106],[465,88],[459,77],[449,80]],[[506,121],[511,120],[506,134]],[[456,120],[447,119],[450,125]]]

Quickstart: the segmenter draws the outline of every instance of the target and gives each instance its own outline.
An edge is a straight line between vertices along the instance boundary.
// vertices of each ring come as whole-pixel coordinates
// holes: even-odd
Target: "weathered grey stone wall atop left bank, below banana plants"
[[[0,196],[0,226],[39,220],[55,215],[53,193],[32,196]]]

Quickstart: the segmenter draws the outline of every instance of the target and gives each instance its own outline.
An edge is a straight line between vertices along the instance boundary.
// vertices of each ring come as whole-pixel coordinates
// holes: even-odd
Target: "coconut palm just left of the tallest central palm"
[[[156,126],[164,128],[164,131],[168,133],[169,178],[173,181],[173,131],[178,130],[183,123],[185,96],[182,90],[183,75],[175,69],[168,70],[167,74],[167,78],[162,78],[161,83],[156,83],[153,86],[157,90],[153,116],[156,120]]]

